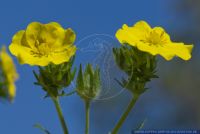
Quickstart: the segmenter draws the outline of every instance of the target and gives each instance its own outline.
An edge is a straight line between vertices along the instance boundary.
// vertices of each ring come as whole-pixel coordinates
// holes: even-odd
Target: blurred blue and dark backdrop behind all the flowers
[[[127,106],[131,96],[113,80],[121,71],[112,59],[111,48],[119,46],[114,35],[124,23],[133,25],[145,20],[162,26],[173,41],[194,44],[193,57],[165,61],[158,57],[159,79],[148,83],[145,92],[120,134],[131,134],[143,120],[144,129],[200,129],[200,1],[199,0],[1,0],[0,44],[9,45],[12,36],[33,21],[59,22],[77,34],[77,66],[92,62],[101,66],[103,88],[92,103],[91,134],[107,134]],[[19,65],[17,96],[13,104],[0,102],[1,134],[40,134],[33,127],[42,124],[51,134],[62,129],[50,99],[34,86],[32,70],[37,67]],[[66,90],[73,90],[74,83]],[[61,99],[64,116],[71,134],[84,133],[84,104],[77,95]]]

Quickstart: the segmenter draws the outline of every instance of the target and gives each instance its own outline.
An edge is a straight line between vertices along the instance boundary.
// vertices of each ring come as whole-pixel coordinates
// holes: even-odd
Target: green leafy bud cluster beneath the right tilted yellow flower
[[[155,75],[157,65],[155,56],[128,46],[113,48],[113,55],[118,67],[128,76],[127,79],[116,81],[133,94],[142,94],[147,89],[145,84],[152,78],[158,78]]]

